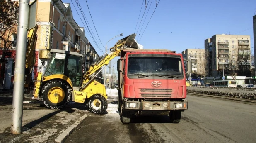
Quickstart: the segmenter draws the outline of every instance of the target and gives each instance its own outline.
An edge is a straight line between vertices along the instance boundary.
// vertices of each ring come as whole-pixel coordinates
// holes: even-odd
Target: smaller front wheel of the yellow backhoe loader
[[[108,101],[104,96],[94,95],[89,99],[89,108],[92,113],[102,114],[108,108]]]

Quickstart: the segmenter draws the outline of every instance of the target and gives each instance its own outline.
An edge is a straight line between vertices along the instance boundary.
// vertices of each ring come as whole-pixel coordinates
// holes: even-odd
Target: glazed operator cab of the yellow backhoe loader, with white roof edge
[[[82,54],[63,50],[51,50],[51,59],[43,77],[65,75],[72,81],[72,87],[79,87],[82,80]],[[63,76],[64,78],[64,76]]]

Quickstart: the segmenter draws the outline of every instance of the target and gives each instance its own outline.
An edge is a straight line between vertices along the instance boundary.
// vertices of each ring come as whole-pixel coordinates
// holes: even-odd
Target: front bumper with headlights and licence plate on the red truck
[[[124,101],[123,109],[127,110],[186,110],[188,101]]]

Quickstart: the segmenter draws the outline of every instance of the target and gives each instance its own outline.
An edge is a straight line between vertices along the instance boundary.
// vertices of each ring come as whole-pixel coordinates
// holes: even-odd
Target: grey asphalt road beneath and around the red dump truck
[[[89,113],[65,143],[255,143],[256,105],[187,96],[189,109],[179,124],[168,116],[135,117],[122,124],[119,114]]]

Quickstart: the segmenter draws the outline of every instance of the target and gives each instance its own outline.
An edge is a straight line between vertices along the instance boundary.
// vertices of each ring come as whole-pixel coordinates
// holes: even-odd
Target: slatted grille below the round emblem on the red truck
[[[141,94],[142,97],[169,98],[171,96],[172,89],[140,89],[140,92],[142,92]]]

